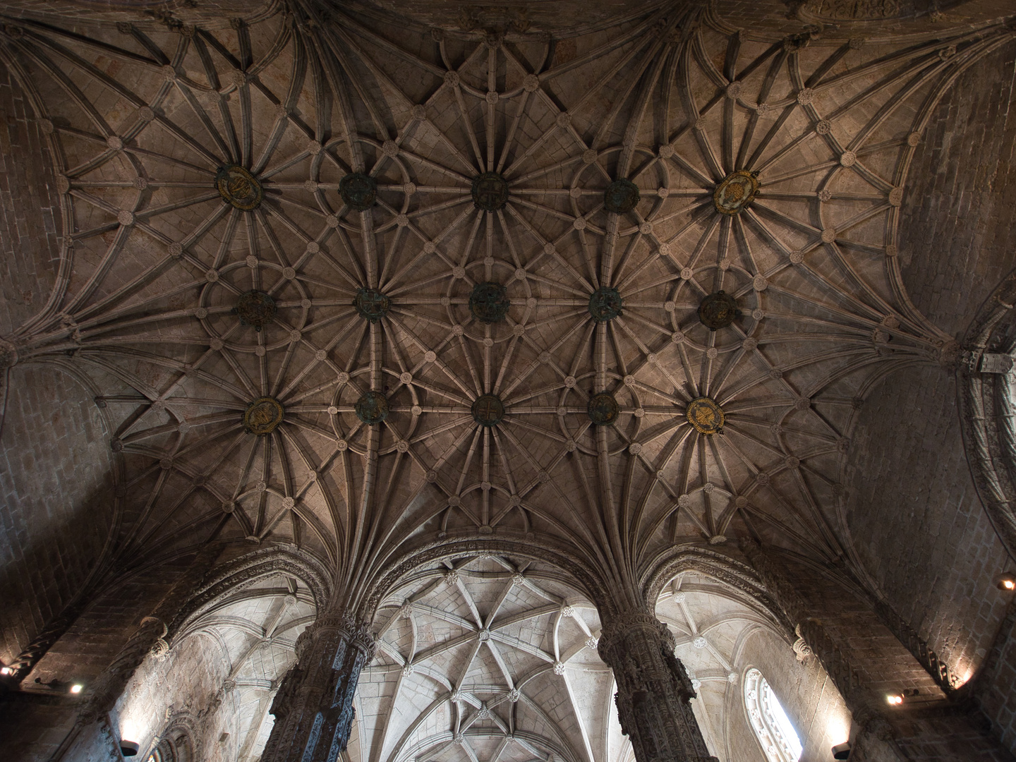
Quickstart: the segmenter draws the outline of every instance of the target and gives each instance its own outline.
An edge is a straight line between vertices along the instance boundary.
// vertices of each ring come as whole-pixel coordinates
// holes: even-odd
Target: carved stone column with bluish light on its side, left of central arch
[[[297,663],[271,704],[261,762],[333,762],[353,729],[353,697],[376,648],[370,624],[323,614],[297,639]]]

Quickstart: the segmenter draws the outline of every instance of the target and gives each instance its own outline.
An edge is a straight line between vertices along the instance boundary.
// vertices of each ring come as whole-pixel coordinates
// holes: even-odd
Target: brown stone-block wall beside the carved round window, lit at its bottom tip
[[[968,680],[1004,616],[993,578],[1007,558],[970,477],[951,371],[899,371],[869,396],[842,482],[870,583]]]

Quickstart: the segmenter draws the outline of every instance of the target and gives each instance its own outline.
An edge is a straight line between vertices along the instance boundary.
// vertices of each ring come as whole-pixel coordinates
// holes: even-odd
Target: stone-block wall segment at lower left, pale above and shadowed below
[[[113,455],[90,393],[45,365],[11,369],[0,432],[0,659],[73,597],[113,512]]]

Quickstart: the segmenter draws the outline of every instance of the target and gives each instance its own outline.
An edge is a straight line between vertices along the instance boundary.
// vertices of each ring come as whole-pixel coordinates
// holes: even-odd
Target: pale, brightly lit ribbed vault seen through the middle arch
[[[598,618],[560,571],[503,556],[422,567],[385,598],[375,629],[352,760],[610,758]]]

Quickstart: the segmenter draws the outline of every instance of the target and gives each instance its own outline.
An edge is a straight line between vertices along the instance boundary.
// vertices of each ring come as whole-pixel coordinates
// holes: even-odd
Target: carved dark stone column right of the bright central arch
[[[621,729],[638,762],[710,762],[692,712],[695,697],[675,640],[649,612],[623,612],[605,622],[599,656],[614,670]]]

